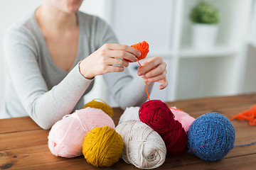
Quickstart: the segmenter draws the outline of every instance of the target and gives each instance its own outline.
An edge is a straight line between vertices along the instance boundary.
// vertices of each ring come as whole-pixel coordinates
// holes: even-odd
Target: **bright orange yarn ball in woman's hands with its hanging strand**
[[[144,58],[146,58],[146,55],[149,53],[149,44],[146,41],[142,41],[137,44],[131,45],[131,47],[136,48],[137,50],[139,50],[142,53],[141,56],[137,57],[138,63],[139,63],[139,60],[143,60]],[[127,61],[131,62],[129,60],[127,60]],[[139,63],[139,66],[142,67],[142,64]],[[146,82],[145,82],[145,84],[146,84],[146,94],[149,98],[149,85]],[[150,98],[149,98],[149,101],[150,101]]]

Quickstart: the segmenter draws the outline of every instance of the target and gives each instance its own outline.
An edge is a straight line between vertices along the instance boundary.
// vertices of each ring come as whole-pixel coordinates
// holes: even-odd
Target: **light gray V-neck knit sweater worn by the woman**
[[[105,43],[117,43],[111,28],[97,16],[77,12],[78,54],[68,72],[55,65],[35,15],[12,26],[4,36],[6,94],[3,115],[29,115],[41,128],[51,126],[64,115],[85,104],[83,96],[93,80],[80,74],[78,63]],[[70,42],[72,43],[72,42]],[[121,108],[140,106],[146,101],[146,86],[140,77],[122,73],[103,75],[105,83]],[[150,84],[150,89],[152,84]],[[1,116],[0,116],[1,117]]]

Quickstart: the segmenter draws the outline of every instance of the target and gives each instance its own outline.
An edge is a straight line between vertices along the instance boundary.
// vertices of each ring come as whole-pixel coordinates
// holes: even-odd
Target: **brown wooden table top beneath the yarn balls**
[[[167,103],[176,106],[194,118],[219,112],[230,118],[249,109],[256,103],[256,94],[199,98]],[[117,125],[122,110],[114,108],[114,123]],[[247,121],[232,120],[236,131],[235,145],[256,141],[256,127]],[[97,168],[87,164],[81,157],[55,157],[48,149],[48,130],[42,130],[29,117],[0,120],[0,169],[137,169],[122,159],[111,167]],[[256,144],[235,147],[218,162],[205,162],[189,153],[174,155],[158,169],[256,169]]]

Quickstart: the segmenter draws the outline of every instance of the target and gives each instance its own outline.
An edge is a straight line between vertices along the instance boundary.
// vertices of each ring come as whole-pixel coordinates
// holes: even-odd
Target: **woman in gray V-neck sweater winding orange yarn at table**
[[[107,24],[78,11],[82,0],[44,0],[23,23],[4,37],[7,63],[4,113],[29,115],[41,128],[50,129],[63,115],[84,105],[82,96],[102,75],[121,108],[146,101],[146,86],[124,67],[140,55],[119,45]],[[138,75],[146,82],[167,86],[166,64],[161,57],[142,63]],[[150,84],[149,86],[152,86]]]

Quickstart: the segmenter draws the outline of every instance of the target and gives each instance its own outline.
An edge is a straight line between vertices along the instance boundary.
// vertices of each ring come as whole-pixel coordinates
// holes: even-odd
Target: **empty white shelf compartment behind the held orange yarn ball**
[[[174,1],[113,0],[112,27],[119,42],[132,45],[145,40],[151,52],[171,48]]]

